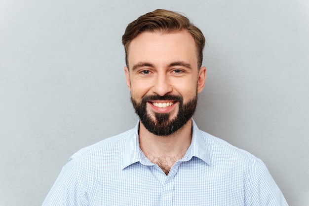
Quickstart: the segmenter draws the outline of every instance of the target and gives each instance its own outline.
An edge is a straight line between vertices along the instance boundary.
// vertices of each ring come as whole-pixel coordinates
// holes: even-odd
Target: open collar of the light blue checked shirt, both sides
[[[139,138],[138,130],[139,130],[139,121],[137,122],[136,126],[131,130],[129,137],[125,142],[122,169],[136,162],[140,162],[143,165],[149,165],[149,166],[154,165],[150,160],[147,159],[147,157],[140,149],[140,144],[138,140]],[[182,162],[189,161],[192,159],[192,157],[197,157],[203,160],[208,165],[210,163],[209,152],[206,146],[206,142],[202,137],[193,119],[192,119],[191,145],[188,148],[185,156],[180,161]]]

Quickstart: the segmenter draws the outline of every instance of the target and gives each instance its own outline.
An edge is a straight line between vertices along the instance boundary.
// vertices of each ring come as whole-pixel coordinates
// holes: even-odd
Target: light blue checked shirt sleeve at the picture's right
[[[257,160],[257,171],[250,206],[288,206],[280,189],[262,160]]]

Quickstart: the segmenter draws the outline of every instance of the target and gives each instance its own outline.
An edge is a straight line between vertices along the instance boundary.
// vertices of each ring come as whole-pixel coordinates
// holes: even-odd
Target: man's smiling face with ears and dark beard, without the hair
[[[158,136],[181,129],[194,113],[206,76],[206,68],[198,71],[191,34],[139,34],[129,45],[128,63],[127,85],[141,123]]]

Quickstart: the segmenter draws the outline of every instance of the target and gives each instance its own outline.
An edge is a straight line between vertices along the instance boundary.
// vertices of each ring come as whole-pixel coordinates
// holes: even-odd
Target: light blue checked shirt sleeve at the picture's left
[[[60,172],[42,206],[86,206],[75,172],[74,160],[70,160]]]

